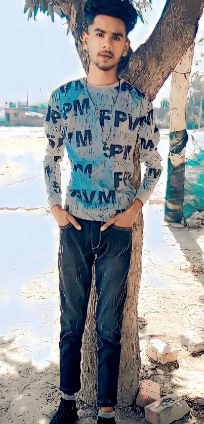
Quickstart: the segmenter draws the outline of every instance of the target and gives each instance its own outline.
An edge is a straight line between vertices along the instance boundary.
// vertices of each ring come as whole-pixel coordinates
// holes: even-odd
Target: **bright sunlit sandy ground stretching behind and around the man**
[[[47,424],[59,400],[59,231],[47,209],[42,167],[46,144],[40,128],[0,128],[1,424]],[[164,173],[144,207],[141,376],[160,382],[163,394],[204,397],[204,355],[194,357],[179,340],[187,333],[194,342],[204,341],[204,230],[161,226],[168,130],[161,130],[159,152]],[[65,155],[64,192],[66,180]],[[145,348],[151,337],[178,348],[178,364],[150,363]],[[142,415],[138,422],[145,422]]]

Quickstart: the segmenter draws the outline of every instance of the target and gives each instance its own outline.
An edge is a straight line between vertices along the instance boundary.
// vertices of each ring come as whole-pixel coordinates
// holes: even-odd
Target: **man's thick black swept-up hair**
[[[121,19],[127,34],[137,23],[138,13],[133,6],[134,0],[87,0],[84,6],[86,30],[93,24],[97,15],[107,15]]]

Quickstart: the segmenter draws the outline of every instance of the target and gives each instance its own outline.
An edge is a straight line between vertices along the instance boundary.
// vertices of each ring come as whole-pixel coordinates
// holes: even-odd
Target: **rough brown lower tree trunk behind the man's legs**
[[[138,163],[138,147],[134,152],[134,161]],[[134,185],[140,185],[140,166],[135,166],[133,176]],[[142,253],[143,219],[140,214],[133,229],[133,252],[128,279],[128,297],[124,312],[122,350],[118,384],[118,405],[131,405],[139,383],[140,351],[137,325],[137,302],[141,278],[141,253]],[[78,397],[88,405],[96,403],[96,289],[93,279],[87,323],[81,351],[81,390]]]

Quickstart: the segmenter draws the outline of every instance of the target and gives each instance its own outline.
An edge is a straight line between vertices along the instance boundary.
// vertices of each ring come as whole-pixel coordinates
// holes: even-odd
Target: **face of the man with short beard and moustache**
[[[117,68],[121,56],[127,55],[130,45],[125,23],[106,15],[96,16],[88,33],[83,32],[83,42],[90,61],[103,71]]]

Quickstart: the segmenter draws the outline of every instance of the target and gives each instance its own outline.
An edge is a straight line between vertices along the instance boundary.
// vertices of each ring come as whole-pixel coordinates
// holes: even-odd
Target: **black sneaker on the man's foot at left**
[[[57,411],[51,415],[50,424],[73,424],[77,419],[76,401],[61,397]]]

